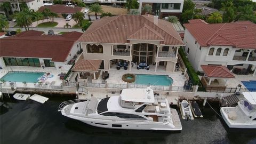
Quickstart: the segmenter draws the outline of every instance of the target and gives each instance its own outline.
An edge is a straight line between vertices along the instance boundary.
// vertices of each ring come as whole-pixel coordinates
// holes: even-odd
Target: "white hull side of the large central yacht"
[[[109,119],[97,119],[97,118],[88,118],[82,116],[68,115],[61,111],[63,116],[76,119],[83,123],[95,126],[102,127],[107,129],[124,129],[124,130],[158,130],[158,131],[181,131],[182,127],[174,127],[173,124],[164,124],[158,122],[135,122],[135,121],[115,121]]]

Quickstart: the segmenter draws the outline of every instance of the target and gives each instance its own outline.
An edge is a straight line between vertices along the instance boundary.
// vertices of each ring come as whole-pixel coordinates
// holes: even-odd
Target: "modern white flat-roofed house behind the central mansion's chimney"
[[[179,15],[182,13],[184,0],[139,0],[140,13],[143,13],[142,7],[146,4],[152,6],[152,14],[158,15],[159,19],[169,15]]]

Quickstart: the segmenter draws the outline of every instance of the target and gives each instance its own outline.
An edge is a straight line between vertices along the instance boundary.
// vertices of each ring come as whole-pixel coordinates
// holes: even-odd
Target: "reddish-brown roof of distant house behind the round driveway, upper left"
[[[62,5],[62,4],[54,4],[54,5],[50,5],[50,6],[41,6],[38,11],[39,12],[43,12],[44,9],[50,9],[51,12],[54,12],[54,13],[67,13],[67,14],[73,14],[73,13],[76,13],[76,12],[81,12],[83,7],[80,7],[80,6],[65,6],[65,5]]]

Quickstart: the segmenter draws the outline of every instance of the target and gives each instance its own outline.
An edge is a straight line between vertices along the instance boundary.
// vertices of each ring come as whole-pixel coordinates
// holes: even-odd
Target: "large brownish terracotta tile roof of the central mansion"
[[[134,35],[132,36],[131,33]],[[150,33],[149,36],[147,36],[148,33]],[[118,15],[96,20],[78,41],[92,43],[129,43],[129,36],[133,38],[147,38],[147,40],[160,40],[163,38],[161,44],[185,45],[177,31],[173,28],[172,23],[165,20],[158,20],[158,25],[155,25],[154,17],[151,15]]]

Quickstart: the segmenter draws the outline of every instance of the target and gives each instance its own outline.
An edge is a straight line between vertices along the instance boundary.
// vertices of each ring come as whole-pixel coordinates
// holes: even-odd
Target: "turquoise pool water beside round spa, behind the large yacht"
[[[136,75],[135,84],[143,85],[171,85],[173,80],[166,75]]]

